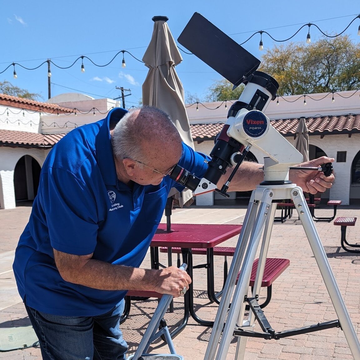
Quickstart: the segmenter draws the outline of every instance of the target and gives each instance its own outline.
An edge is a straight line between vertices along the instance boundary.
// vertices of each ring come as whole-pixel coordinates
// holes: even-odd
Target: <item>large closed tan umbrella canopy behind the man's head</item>
[[[184,88],[175,66],[183,61],[171,35],[166,16],[154,16],[154,31],[143,61],[149,68],[143,84],[143,104],[156,106],[167,112],[179,131],[185,144],[194,148],[188,115],[185,109]],[[175,201],[180,207],[193,202],[192,192],[188,189],[181,194],[172,189]],[[175,192],[177,194],[175,194]]]

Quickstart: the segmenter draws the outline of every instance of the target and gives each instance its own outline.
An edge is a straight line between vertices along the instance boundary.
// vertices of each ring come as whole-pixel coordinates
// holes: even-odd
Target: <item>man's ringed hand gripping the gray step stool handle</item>
[[[157,271],[158,274],[156,274],[156,279],[154,279],[157,284],[154,291],[179,297],[180,290],[183,290],[184,286],[186,290],[189,289],[191,278],[185,270],[170,266]]]

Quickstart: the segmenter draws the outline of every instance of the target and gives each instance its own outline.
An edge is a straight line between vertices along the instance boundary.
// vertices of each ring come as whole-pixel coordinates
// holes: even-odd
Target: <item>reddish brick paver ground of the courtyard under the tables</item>
[[[31,208],[27,206],[0,210],[0,327],[3,328],[28,324],[26,311],[16,291],[11,264],[19,234],[27,222],[30,211]],[[171,220],[173,223],[242,224],[245,212],[245,206],[190,207],[174,210]],[[331,213],[332,209],[326,205],[316,209],[317,216],[329,216]],[[338,216],[360,218],[360,207],[339,207]],[[165,218],[163,221],[166,221]],[[358,221],[359,224],[347,230],[349,242],[359,242],[360,219]],[[317,222],[315,225],[359,336],[360,254],[348,253],[341,249],[340,226],[334,226],[333,222]],[[222,245],[235,246],[236,242],[237,238],[232,238]],[[290,266],[275,280],[272,300],[264,309],[267,319],[276,331],[337,319],[309,242],[296,215],[284,224],[274,223],[268,256],[290,260]],[[167,255],[160,254],[160,260],[166,263]],[[203,256],[194,255],[194,264],[203,261]],[[217,288],[222,284],[222,261],[222,257],[215,259]],[[142,266],[148,265],[149,256]],[[217,305],[207,300],[205,291],[206,270],[195,269],[193,281],[197,315],[207,320],[215,319]],[[264,293],[261,293],[261,297],[264,297]],[[181,300],[182,298],[176,299],[175,312],[167,313],[165,316],[170,330],[174,329],[176,322],[181,319]],[[152,299],[132,302],[129,319],[121,325],[129,345],[129,354],[135,352],[156,305],[157,301]],[[258,328],[257,325],[255,329]],[[174,346],[186,360],[203,359],[210,333],[210,328],[201,326],[190,318],[186,328],[174,338]],[[233,339],[227,359],[234,359],[235,349],[236,342]],[[151,350],[158,353],[168,352],[167,346],[160,339],[152,344]],[[0,359],[40,360],[41,354],[39,348],[28,348],[0,352]],[[325,360],[352,359],[352,355],[341,329],[333,328],[278,341],[249,338],[244,359]]]

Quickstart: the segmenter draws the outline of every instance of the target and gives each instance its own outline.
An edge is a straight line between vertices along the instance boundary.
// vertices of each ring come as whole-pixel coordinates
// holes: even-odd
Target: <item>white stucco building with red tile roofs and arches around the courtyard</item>
[[[336,159],[336,182],[322,198],[360,202],[360,100],[359,92],[285,96],[265,110],[272,125],[290,143],[298,119],[305,117],[310,135],[310,159],[326,154]],[[325,96],[325,97],[324,97]],[[296,100],[298,99],[298,100]],[[209,154],[213,139],[226,121],[231,103],[206,103],[187,108],[195,150]],[[32,200],[37,192],[40,169],[51,147],[77,126],[104,118],[118,103],[92,99],[82,94],[63,94],[48,103],[0,94],[0,208],[13,208],[18,201]],[[214,109],[214,110],[211,110]],[[264,154],[253,150],[254,160]],[[241,195],[241,194],[240,194]],[[215,194],[215,198],[219,196]],[[236,198],[239,194],[232,194]],[[214,194],[197,198],[197,204],[213,204]]]

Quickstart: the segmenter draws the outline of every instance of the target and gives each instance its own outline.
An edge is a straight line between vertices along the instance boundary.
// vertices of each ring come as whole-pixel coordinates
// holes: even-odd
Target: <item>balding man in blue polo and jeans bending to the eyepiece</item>
[[[126,291],[178,297],[188,289],[183,270],[139,266],[167,194],[174,186],[183,190],[167,175],[179,163],[202,177],[205,158],[181,143],[168,115],[153,107],[113,109],[54,146],[13,265],[44,360],[125,359],[119,320]],[[315,193],[330,188],[334,177],[297,171],[295,179]],[[246,184],[261,180],[258,164],[244,163],[230,190],[251,190]]]

